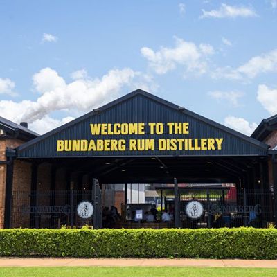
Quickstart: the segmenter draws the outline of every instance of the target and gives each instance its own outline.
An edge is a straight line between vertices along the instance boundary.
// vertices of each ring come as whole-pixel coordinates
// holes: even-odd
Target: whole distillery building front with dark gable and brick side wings
[[[141,90],[42,136],[0,118],[0,228],[100,228],[106,204],[125,226],[148,213],[145,195],[172,210],[173,226],[267,226],[277,218],[275,120],[249,137]]]

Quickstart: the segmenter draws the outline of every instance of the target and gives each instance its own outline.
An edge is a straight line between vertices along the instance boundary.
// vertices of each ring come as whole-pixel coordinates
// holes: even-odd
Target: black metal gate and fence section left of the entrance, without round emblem
[[[78,214],[78,206],[91,204],[93,215]],[[62,226],[102,228],[102,193],[97,179],[92,190],[16,191],[12,194],[12,228],[51,228]]]

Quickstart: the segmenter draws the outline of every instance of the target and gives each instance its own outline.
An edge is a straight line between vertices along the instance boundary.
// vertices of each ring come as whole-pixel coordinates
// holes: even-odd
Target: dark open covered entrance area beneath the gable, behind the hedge
[[[105,225],[104,220],[104,226],[109,228],[249,226],[247,207],[257,204],[262,205],[262,226],[273,220],[272,195],[267,190],[267,157],[70,157],[21,161],[32,165],[30,192],[12,194],[12,217],[20,217],[31,227],[93,225],[93,217],[80,220],[76,213],[78,203],[85,199],[94,201],[93,179],[100,184],[101,209],[116,206],[120,215],[120,220],[113,224]],[[44,173],[48,181],[38,178],[42,168],[47,170]],[[143,192],[136,199],[140,184]],[[155,199],[145,197],[146,184],[156,192]],[[230,197],[230,191],[235,195]],[[204,206],[200,220],[186,217],[186,204],[191,200]],[[215,204],[217,210],[230,205],[246,208],[225,211],[224,215],[223,211],[215,211]],[[144,214],[153,205],[159,210],[154,222],[147,222],[144,216],[136,220],[136,210],[143,210]],[[29,214],[22,217],[19,212],[27,206],[44,207],[44,211],[27,209],[25,213]],[[55,206],[67,206],[68,211],[47,211],[46,207]],[[162,221],[163,210],[170,213],[171,222]],[[226,220],[226,214],[230,213],[232,220]],[[103,217],[101,213],[93,216]],[[220,220],[215,218],[218,216]]]

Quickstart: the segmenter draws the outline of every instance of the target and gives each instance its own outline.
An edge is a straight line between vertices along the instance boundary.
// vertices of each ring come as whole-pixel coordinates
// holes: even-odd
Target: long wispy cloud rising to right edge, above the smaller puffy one
[[[216,69],[212,73],[213,78],[244,79],[255,78],[260,73],[277,71],[277,49],[264,53],[260,56],[252,57],[247,63],[231,69],[227,66]]]

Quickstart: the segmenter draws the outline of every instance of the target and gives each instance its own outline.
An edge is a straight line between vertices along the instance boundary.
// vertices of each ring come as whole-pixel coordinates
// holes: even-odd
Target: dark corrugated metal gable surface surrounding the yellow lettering
[[[56,152],[56,141],[62,139],[91,139],[90,123],[168,123],[168,122],[189,122],[190,133],[188,138],[220,138],[224,137],[224,150],[211,151],[159,151],[150,152]],[[172,136],[164,134],[164,139]],[[177,138],[184,138],[184,135],[176,135]],[[122,138],[122,136],[121,136]],[[127,135],[125,139],[140,138],[140,136]],[[159,139],[157,134],[145,134],[141,138]],[[120,139],[120,136],[98,136],[98,139]],[[157,96],[145,91],[136,90],[109,104],[93,110],[70,123],[62,125],[51,132],[39,136],[33,141],[24,143],[17,148],[18,157],[108,157],[128,156],[139,157],[147,155],[179,155],[179,156],[208,156],[208,155],[256,155],[266,156],[268,145],[245,136],[233,129],[215,123],[213,120],[199,116],[183,107],[172,104]]]

